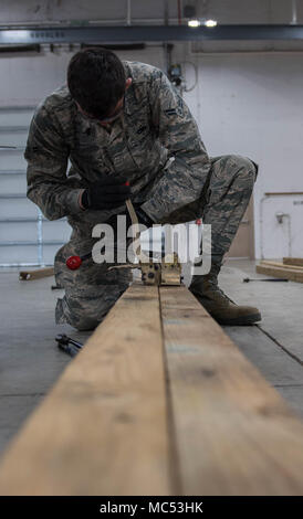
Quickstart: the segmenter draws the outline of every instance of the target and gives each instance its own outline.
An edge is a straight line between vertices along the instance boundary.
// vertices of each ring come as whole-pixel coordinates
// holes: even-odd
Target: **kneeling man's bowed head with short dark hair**
[[[69,63],[69,91],[81,108],[96,118],[113,112],[125,93],[125,82],[123,63],[108,49],[84,49]]]

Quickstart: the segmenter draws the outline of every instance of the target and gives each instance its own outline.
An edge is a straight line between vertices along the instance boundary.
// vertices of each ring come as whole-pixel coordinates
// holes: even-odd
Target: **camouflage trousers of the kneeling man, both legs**
[[[251,160],[228,155],[211,159],[211,168],[199,198],[173,212],[163,223],[184,223],[202,218],[211,224],[212,254],[223,255],[237,233],[249,203],[258,167]],[[56,283],[65,288],[58,299],[55,319],[79,330],[95,328],[132,282],[127,268],[108,269],[113,264],[85,260],[77,271],[70,271],[65,261],[71,255],[85,255],[96,239],[71,240],[55,256]],[[115,241],[115,252],[119,243]],[[116,256],[115,256],[116,257]]]

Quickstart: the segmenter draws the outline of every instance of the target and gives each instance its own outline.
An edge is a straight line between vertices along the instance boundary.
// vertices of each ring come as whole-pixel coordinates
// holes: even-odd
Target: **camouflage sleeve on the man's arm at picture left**
[[[70,149],[60,124],[42,105],[30,126],[24,158],[28,161],[28,192],[49,220],[82,211],[81,189],[69,186],[66,176]]]

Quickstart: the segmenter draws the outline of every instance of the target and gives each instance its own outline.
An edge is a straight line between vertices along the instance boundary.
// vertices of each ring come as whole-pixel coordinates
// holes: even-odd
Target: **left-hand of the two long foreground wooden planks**
[[[169,495],[157,287],[130,286],[4,455],[1,495]]]

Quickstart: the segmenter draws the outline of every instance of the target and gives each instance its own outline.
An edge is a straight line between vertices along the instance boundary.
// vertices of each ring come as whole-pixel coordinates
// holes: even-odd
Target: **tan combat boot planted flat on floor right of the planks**
[[[252,325],[261,320],[258,308],[239,306],[218,286],[221,264],[212,264],[206,276],[194,276],[189,290],[220,325]]]

